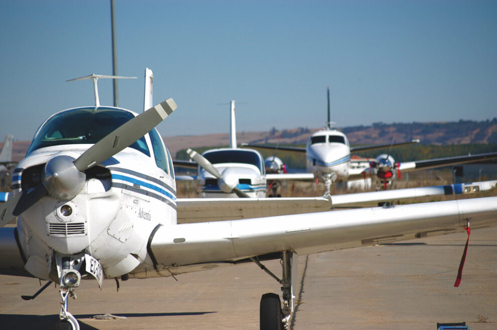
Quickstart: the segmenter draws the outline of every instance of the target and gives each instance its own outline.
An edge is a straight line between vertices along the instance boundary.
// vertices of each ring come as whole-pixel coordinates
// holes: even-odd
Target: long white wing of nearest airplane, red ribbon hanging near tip
[[[497,197],[161,226],[148,251],[156,272],[169,276],[283,251],[306,255],[462,232],[468,221],[471,229],[497,225]]]

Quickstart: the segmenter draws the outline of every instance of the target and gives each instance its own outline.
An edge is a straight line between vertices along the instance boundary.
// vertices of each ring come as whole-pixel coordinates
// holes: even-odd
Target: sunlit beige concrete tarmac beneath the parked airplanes
[[[497,229],[471,232],[462,283],[453,287],[467,235],[299,257],[292,329],[436,329],[465,321],[497,328]],[[278,261],[265,263],[280,275]],[[259,302],[280,285],[255,264],[173,278],[85,280],[69,310],[81,329],[258,328]],[[42,283],[43,284],[43,283]],[[60,295],[32,278],[0,276],[0,329],[54,329]],[[95,320],[110,313],[123,319]]]

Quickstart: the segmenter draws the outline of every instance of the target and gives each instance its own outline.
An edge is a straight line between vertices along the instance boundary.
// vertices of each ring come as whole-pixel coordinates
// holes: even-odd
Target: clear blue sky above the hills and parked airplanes
[[[121,107],[173,97],[164,136],[497,116],[496,1],[116,0]],[[0,2],[0,139],[93,104],[111,74],[110,1]],[[112,83],[99,80],[101,104]],[[246,103],[246,104],[242,104]],[[77,123],[75,123],[77,124]]]

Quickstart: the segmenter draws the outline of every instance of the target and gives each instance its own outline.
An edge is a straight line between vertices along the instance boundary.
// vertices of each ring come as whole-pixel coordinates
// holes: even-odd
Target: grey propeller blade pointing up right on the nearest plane
[[[83,152],[74,161],[76,169],[80,172],[87,170],[130,146],[166,119],[177,107],[170,98],[122,124]]]

